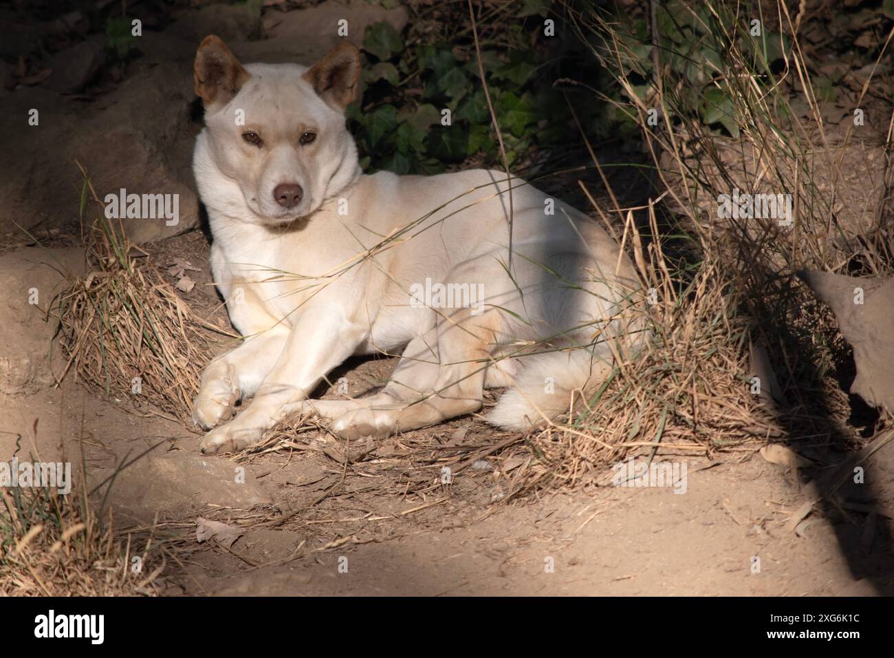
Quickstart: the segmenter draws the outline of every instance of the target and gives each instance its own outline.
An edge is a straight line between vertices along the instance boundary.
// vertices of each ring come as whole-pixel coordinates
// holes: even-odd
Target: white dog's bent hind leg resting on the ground
[[[433,329],[409,343],[382,393],[354,400],[366,404],[336,418],[333,432],[382,437],[476,411],[500,324],[495,310],[442,315]]]

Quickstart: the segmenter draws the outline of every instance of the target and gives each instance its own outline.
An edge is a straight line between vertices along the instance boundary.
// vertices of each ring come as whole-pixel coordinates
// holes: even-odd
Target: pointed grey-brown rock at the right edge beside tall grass
[[[894,278],[845,277],[816,269],[797,273],[829,304],[841,335],[854,348],[856,378],[850,392],[894,413]],[[859,299],[863,291],[863,303]]]

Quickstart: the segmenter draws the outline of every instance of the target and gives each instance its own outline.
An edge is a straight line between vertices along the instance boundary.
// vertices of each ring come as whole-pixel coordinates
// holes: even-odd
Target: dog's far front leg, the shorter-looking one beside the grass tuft
[[[228,420],[236,401],[254,393],[273,367],[288,336],[284,327],[268,329],[208,363],[192,406],[193,421],[210,430]]]

